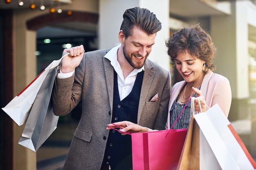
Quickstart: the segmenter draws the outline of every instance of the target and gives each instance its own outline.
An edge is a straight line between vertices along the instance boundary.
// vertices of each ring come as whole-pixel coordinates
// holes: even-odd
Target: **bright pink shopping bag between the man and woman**
[[[175,170],[186,129],[132,133],[133,170]]]

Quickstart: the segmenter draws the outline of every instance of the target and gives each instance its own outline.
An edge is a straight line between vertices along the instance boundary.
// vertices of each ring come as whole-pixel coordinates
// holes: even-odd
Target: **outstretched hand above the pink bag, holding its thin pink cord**
[[[117,126],[115,126],[114,124]],[[126,135],[126,133],[148,132],[147,127],[140,126],[139,124],[135,124],[129,121],[115,122],[114,124],[108,124],[108,127],[106,129],[110,130],[111,128],[120,128],[119,132],[121,133],[121,135]],[[126,132],[126,133],[122,133],[122,132]]]

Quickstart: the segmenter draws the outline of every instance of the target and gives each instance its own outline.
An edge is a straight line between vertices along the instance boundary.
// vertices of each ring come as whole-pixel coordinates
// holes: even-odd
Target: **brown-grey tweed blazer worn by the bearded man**
[[[57,116],[70,113],[82,100],[81,119],[65,161],[67,170],[99,170],[112,120],[114,68],[104,56],[110,49],[85,52],[69,78],[56,76],[52,92]],[[170,99],[171,76],[146,59],[137,122],[153,129],[165,129]],[[150,101],[158,93],[157,101]],[[121,155],[120,155],[121,156]]]

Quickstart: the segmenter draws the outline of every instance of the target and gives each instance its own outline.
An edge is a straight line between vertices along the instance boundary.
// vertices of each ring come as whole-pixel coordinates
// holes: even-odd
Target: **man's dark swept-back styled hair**
[[[120,30],[123,31],[124,35],[128,37],[132,34],[132,28],[137,27],[141,31],[144,31],[148,35],[157,33],[162,29],[161,22],[157,20],[154,13],[148,9],[135,7],[127,9],[123,15],[123,22]]]

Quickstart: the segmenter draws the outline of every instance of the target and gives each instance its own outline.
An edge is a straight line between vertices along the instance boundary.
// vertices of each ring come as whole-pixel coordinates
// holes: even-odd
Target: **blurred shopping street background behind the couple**
[[[64,48],[83,44],[85,51],[119,44],[126,9],[147,8],[162,22],[149,59],[181,78],[172,67],[165,41],[175,31],[200,23],[218,51],[216,73],[231,84],[229,121],[256,158],[256,0],[0,0],[1,108]],[[17,126],[1,110],[0,170],[58,170],[81,115],[79,104],[59,117],[57,129],[35,153],[18,144]]]

